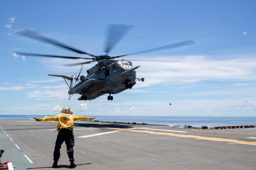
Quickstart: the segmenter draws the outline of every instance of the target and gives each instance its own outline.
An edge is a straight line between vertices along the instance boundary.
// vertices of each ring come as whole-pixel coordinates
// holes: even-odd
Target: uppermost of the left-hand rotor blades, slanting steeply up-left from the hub
[[[40,35],[40,34],[38,34],[38,33],[36,33],[36,32],[33,32],[33,31],[31,31],[31,30],[28,30],[28,29],[22,30],[22,31],[18,32],[18,34],[20,34],[20,35],[25,35],[25,36],[29,36],[29,37],[34,38],[34,39],[36,39],[36,40],[44,41],[44,42],[47,42],[47,43],[50,43],[50,44],[53,44],[53,45],[57,45],[57,46],[59,46],[59,47],[67,48],[67,49],[69,49],[69,50],[75,51],[75,52],[80,53],[80,54],[87,54],[87,55],[96,57],[96,56],[94,56],[94,55],[92,55],[92,54],[89,54],[89,53],[86,53],[86,52],[77,50],[77,49],[75,49],[75,48],[69,47],[69,46],[67,46],[67,45],[63,45],[63,44],[61,44],[61,43],[58,43],[58,42],[55,41],[55,40],[51,40],[51,39],[49,39],[49,38],[47,38],[47,37],[45,37],[45,36],[43,36],[43,35]]]

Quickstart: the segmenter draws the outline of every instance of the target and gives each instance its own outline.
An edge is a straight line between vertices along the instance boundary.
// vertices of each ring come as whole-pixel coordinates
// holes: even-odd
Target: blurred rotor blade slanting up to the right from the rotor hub
[[[122,56],[116,56],[116,57],[112,57],[112,58],[119,58],[119,57],[123,57],[123,56],[130,56],[130,55],[141,54],[141,53],[149,53],[149,52],[153,52],[153,51],[159,51],[159,50],[164,50],[164,49],[169,49],[169,48],[184,47],[184,46],[194,45],[194,44],[196,44],[196,43],[192,40],[183,41],[183,42],[180,42],[180,43],[170,44],[170,45],[166,45],[166,46],[162,46],[162,47],[157,47],[157,48],[144,50],[144,51],[140,51],[140,52],[137,52],[137,53],[126,54],[126,55],[122,55]]]

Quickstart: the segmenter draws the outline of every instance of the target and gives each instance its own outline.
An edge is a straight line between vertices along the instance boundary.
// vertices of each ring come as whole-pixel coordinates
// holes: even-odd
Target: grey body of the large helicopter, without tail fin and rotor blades
[[[138,66],[139,67],[139,66]],[[104,94],[109,94],[109,100],[113,100],[111,94],[117,94],[136,83],[136,71],[131,62],[123,62],[120,59],[99,61],[87,70],[87,76],[80,76],[80,81],[70,87],[69,94],[82,95],[78,100],[93,100]]]

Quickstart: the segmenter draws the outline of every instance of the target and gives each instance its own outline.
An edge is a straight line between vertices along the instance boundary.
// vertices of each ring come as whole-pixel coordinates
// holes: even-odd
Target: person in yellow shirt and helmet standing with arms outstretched
[[[52,167],[57,167],[59,158],[60,158],[60,148],[62,143],[65,141],[67,146],[68,158],[70,161],[70,168],[75,168],[77,165],[74,163],[74,134],[73,134],[73,124],[76,120],[92,120],[96,117],[84,117],[84,116],[75,116],[70,111],[68,106],[63,107],[61,114],[58,114],[54,117],[45,117],[45,118],[34,118],[36,121],[58,121],[57,126],[58,136],[55,142],[55,148],[53,153],[54,163]]]

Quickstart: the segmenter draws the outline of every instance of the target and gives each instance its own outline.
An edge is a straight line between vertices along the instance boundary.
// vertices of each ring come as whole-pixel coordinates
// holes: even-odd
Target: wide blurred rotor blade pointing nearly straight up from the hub
[[[113,46],[118,42],[121,37],[129,31],[132,25],[122,25],[122,24],[111,24],[109,27],[109,35],[106,41],[106,50],[105,52],[108,54],[109,51],[113,48]]]

